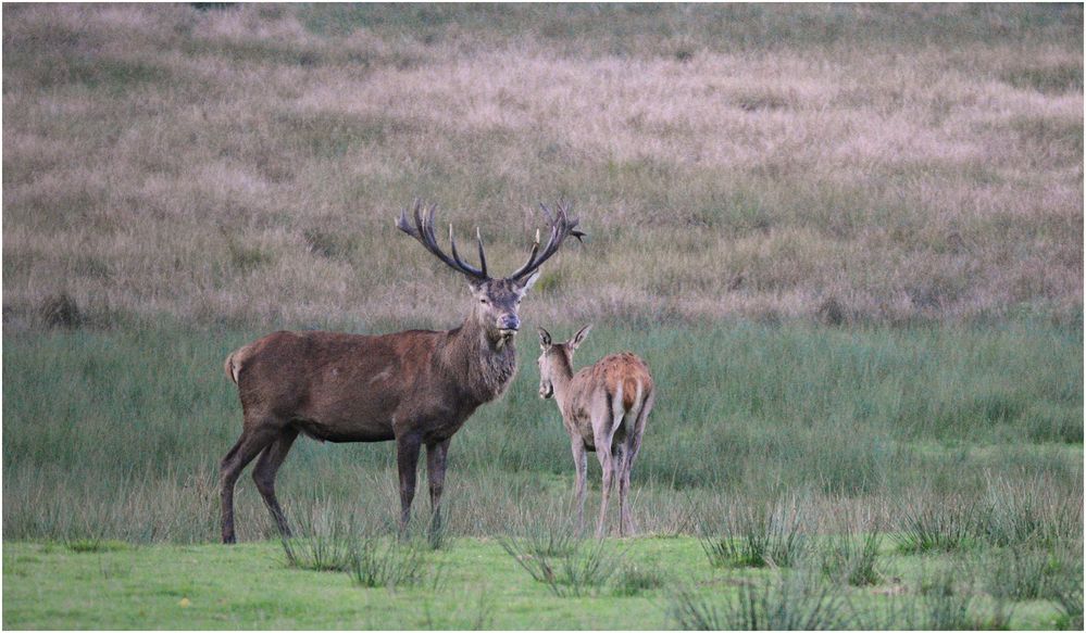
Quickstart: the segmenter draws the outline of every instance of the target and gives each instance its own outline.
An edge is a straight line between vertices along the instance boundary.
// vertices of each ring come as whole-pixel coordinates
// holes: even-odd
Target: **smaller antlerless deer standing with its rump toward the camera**
[[[610,354],[591,367],[573,374],[573,352],[584,342],[591,326],[565,343],[552,343],[550,333],[539,328],[539,396],[554,396],[562,422],[570,433],[573,461],[577,469],[577,522],[585,520],[585,477],[592,451],[603,468],[600,518],[596,535],[603,536],[607,505],[619,477],[619,534],[633,533],[629,506],[629,471],[641,447],[645,420],[652,410],[656,390],[644,360],[623,352]]]

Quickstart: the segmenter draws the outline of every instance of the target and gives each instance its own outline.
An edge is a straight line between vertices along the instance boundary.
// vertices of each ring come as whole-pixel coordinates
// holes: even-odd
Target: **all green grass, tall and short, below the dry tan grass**
[[[609,579],[592,590],[606,595],[544,602],[536,597],[547,583],[526,571],[503,580],[515,575],[515,561],[495,542],[561,536],[571,514],[567,439],[553,404],[536,396],[530,346],[520,351],[526,369],[511,392],[452,444],[441,533],[451,554],[425,555],[463,582],[386,598],[384,590],[351,587],[342,573],[287,569],[274,544],[237,554],[199,545],[217,539],[216,465],[240,419],[232,385],[209,368],[251,336],[176,326],[5,338],[5,626],[466,628],[473,618],[496,628],[697,626],[706,613],[726,617],[728,600],[762,596],[739,592],[748,586],[776,592],[764,599],[799,592],[832,600],[834,618],[847,618],[835,620],[838,628],[927,628],[929,611],[958,609],[954,600],[968,603],[969,616],[951,628],[1071,625],[1074,607],[1058,605],[1074,598],[1064,595],[1077,595],[1081,610],[1073,588],[1082,575],[1081,331],[597,328],[579,353],[635,347],[666,394],[634,471],[634,519],[654,537],[606,547],[626,552],[624,565],[666,573],[635,597],[613,595],[624,590]],[[57,367],[72,371],[57,376]],[[589,473],[592,508],[598,466]],[[363,535],[395,533],[389,444],[302,441],[279,482],[292,523],[311,540],[303,553],[335,554]],[[248,478],[238,502],[239,537],[274,539]],[[425,507],[416,499],[416,517]],[[423,524],[416,519],[417,532]],[[872,586],[850,588],[834,570],[851,569],[869,533],[881,539],[864,581]],[[690,535],[724,547],[719,570]],[[110,552],[118,542],[129,545]],[[554,560],[559,569],[564,559]],[[616,560],[603,567],[617,570]],[[759,571],[765,565],[792,570],[801,584],[772,584],[792,577]],[[254,575],[230,580],[250,566],[272,571],[255,584]],[[67,571],[54,574],[58,567]],[[221,569],[214,583],[197,582],[208,569]],[[148,574],[160,580],[148,585]],[[75,599],[43,588],[39,575],[50,586],[96,588]],[[748,577],[771,584],[750,585]],[[699,580],[684,588],[676,579]],[[951,583],[950,602],[928,604],[939,582]],[[512,595],[487,593],[492,603],[476,607],[488,586]],[[137,599],[145,595],[164,608]],[[409,608],[420,596],[429,611]],[[183,597],[202,610],[178,608]]]

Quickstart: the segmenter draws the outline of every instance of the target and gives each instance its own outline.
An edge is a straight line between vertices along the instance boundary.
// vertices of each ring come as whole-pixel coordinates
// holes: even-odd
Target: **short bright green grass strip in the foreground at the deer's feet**
[[[427,552],[416,583],[376,587],[358,584],[349,573],[291,569],[276,544],[134,549],[103,543],[97,550],[9,544],[3,554],[4,626],[675,629],[689,626],[691,611],[707,606],[716,609],[719,622],[740,618],[734,621],[739,623],[741,611],[729,605],[747,595],[753,597],[748,604],[784,606],[769,611],[771,624],[866,629],[885,626],[887,617],[899,619],[901,628],[920,629],[1052,629],[1068,623],[1065,613],[1047,600],[1009,605],[956,593],[984,565],[976,557],[944,569],[941,561],[886,549],[882,567],[892,581],[822,595],[800,571],[779,582],[765,570],[713,569],[689,537],[612,542],[604,554],[617,561],[611,578],[581,584],[581,595],[559,596],[548,583],[534,581],[499,543],[474,539]],[[903,579],[927,579],[933,587],[951,579],[945,586],[953,588],[948,595],[936,595],[934,588],[909,595]]]

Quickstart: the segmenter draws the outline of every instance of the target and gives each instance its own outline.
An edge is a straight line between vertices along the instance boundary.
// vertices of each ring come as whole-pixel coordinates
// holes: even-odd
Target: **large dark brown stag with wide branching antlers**
[[[542,205],[540,205],[542,206]],[[500,396],[516,371],[513,338],[517,308],[569,236],[584,237],[569,208],[560,205],[540,250],[539,232],[527,262],[504,279],[487,275],[483,238],[476,230],[479,267],[461,259],[449,227],[450,257],[434,236],[434,213],[415,203],[413,223],[404,210],[396,227],[434,256],[467,277],[472,306],[448,331],[408,330],[384,336],[279,331],[226,358],[238,388],[241,436],[223,457],[223,542],[234,543],[234,485],[258,455],[252,478],[279,532],[290,534],[275,498],[275,473],[298,433],[328,442],[396,441],[400,476],[400,526],[410,518],[419,453],[426,446],[430,507],[439,520],[446,455],[453,433],[483,403]]]

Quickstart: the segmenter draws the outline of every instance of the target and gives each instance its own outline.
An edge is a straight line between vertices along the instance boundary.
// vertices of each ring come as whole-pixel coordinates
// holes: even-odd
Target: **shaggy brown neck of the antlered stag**
[[[472,317],[449,331],[442,360],[479,403],[499,397],[516,374],[513,340],[491,340]]]

